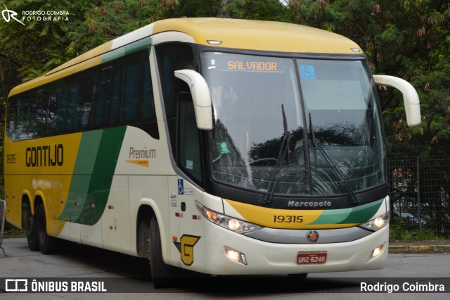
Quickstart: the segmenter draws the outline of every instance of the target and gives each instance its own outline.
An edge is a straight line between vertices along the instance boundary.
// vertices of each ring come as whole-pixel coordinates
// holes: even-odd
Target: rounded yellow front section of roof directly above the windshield
[[[347,37],[304,25],[263,20],[181,18],[160,20],[154,33],[175,30],[193,37],[195,44],[293,53],[355,54],[359,46]],[[361,54],[361,50],[359,50]]]

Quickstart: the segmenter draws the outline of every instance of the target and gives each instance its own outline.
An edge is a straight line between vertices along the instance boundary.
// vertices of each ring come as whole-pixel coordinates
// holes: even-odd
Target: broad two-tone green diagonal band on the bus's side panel
[[[126,126],[84,132],[63,213],[58,220],[94,225],[100,220]]]

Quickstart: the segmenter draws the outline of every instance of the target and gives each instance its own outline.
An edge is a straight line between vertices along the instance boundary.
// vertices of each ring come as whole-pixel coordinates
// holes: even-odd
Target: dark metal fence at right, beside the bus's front
[[[390,157],[392,224],[450,235],[450,157]]]

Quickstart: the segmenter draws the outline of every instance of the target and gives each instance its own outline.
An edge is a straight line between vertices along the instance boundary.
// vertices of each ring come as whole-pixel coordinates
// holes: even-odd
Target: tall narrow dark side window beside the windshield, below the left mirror
[[[180,93],[178,102],[178,156],[177,163],[198,182],[202,182],[200,138],[192,96]]]

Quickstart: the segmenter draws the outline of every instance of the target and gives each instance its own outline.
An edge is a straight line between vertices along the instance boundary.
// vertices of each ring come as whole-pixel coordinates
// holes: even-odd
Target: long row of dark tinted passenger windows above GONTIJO
[[[6,124],[13,140],[125,124],[159,139],[148,49],[11,96]]]

